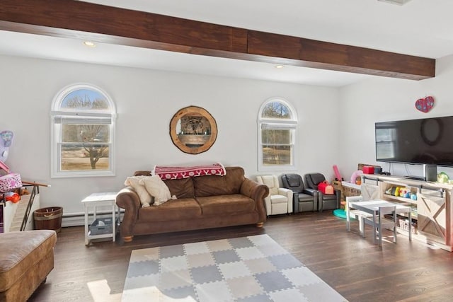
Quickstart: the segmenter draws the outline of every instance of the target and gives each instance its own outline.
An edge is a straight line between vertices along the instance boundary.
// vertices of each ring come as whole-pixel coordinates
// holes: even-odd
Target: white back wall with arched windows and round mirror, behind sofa
[[[41,188],[41,207],[63,207],[65,216],[81,213],[80,200],[91,192],[120,190],[134,170],[156,164],[219,161],[240,165],[254,178],[258,110],[273,96],[288,100],[299,117],[296,173],[319,171],[331,179],[333,164],[346,165],[340,163],[336,88],[5,56],[0,66],[0,130],[15,134],[6,163],[24,180],[52,185]],[[80,82],[103,88],[117,106],[115,177],[50,178],[52,98]],[[219,129],[214,146],[198,155],[179,151],[168,134],[171,117],[188,105],[209,111]]]

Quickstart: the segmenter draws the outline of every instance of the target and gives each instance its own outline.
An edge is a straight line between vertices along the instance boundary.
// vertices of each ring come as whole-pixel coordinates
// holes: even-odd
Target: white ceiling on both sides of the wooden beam
[[[437,59],[453,54],[452,0],[88,0],[238,28]],[[372,76],[0,30],[0,54],[340,87]]]

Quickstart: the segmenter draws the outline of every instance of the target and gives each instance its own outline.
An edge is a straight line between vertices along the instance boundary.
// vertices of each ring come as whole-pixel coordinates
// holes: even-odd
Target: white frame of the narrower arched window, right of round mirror
[[[263,110],[269,103],[282,103],[285,105],[289,114],[291,115],[289,119],[277,119],[277,118],[264,118]],[[265,100],[263,105],[261,105],[258,112],[258,171],[278,171],[278,170],[296,170],[296,154],[297,154],[297,114],[292,105],[285,100],[284,98],[274,97],[268,98]],[[263,148],[262,148],[262,134],[261,129],[289,129],[292,131],[292,152],[291,152],[291,163],[289,165],[264,165],[263,164]]]

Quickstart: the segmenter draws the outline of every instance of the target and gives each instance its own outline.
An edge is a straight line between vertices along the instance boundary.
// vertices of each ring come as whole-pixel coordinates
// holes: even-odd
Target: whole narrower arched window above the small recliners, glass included
[[[270,98],[258,113],[258,170],[295,168],[297,115],[283,98]]]

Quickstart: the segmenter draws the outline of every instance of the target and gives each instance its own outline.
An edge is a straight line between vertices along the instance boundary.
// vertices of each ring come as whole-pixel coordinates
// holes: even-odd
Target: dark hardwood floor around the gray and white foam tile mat
[[[84,228],[63,228],[55,269],[30,301],[120,301],[130,252],[139,248],[266,233],[348,301],[453,301],[453,252],[398,236],[382,248],[351,233],[331,211],[273,216],[263,228],[239,226],[136,236],[84,245]],[[391,232],[386,233],[391,236]],[[139,302],[139,301],[137,301]]]

